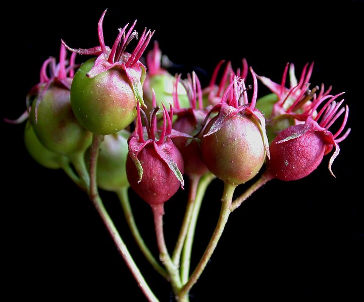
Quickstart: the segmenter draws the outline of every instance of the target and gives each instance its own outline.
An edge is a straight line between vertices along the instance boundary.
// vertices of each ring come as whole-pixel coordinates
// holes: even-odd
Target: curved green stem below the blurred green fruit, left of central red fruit
[[[167,271],[158,263],[157,260],[155,260],[152,253],[145,245],[142,236],[139,233],[138,227],[134,220],[133,212],[130,207],[128,189],[129,186],[122,187],[116,191],[116,194],[118,195],[121,206],[123,207],[125,218],[131,230],[131,233],[133,234],[134,239],[137,245],[139,246],[141,252],[143,253],[144,257],[149,261],[152,267],[156,271],[158,271],[166,280],[169,280],[169,275],[167,274]]]

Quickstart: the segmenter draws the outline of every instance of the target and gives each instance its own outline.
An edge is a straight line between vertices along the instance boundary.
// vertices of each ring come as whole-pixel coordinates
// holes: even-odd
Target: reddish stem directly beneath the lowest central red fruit
[[[154,217],[155,235],[157,236],[157,246],[160,253],[160,260],[166,267],[167,272],[171,278],[171,286],[177,301],[188,302],[188,297],[186,295],[179,294],[181,288],[179,270],[178,267],[173,263],[166,246],[163,230],[164,204],[152,205],[151,209]]]

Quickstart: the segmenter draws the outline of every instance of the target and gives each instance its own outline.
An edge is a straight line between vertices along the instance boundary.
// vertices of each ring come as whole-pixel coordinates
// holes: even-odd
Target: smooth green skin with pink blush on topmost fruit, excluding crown
[[[88,77],[95,58],[88,59],[75,73],[71,85],[72,110],[88,131],[108,135],[130,125],[136,117],[133,87],[124,70],[112,68]],[[142,94],[139,82],[137,89]]]

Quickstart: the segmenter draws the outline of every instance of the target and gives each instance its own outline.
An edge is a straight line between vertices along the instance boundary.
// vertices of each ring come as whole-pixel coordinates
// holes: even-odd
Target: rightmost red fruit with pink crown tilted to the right
[[[337,138],[345,127],[349,112],[347,105],[346,110],[344,108],[339,110],[343,100],[339,103],[334,101],[339,95],[341,94],[330,98],[315,118],[309,115],[304,124],[291,126],[277,135],[270,146],[271,158],[267,160],[267,173],[274,178],[287,181],[303,178],[313,172],[324,155],[335,147],[335,152],[329,161],[329,170],[334,176],[331,165],[340,151],[338,143],[350,132],[348,129],[343,136]],[[324,99],[314,102],[310,112],[315,112]],[[344,121],[333,135],[328,128],[344,111]]]

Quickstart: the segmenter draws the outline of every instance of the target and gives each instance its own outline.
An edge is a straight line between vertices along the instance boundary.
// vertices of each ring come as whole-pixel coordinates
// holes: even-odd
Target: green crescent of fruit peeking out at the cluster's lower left
[[[62,168],[62,155],[44,147],[29,120],[27,120],[24,128],[24,145],[29,155],[41,166],[48,169]]]

